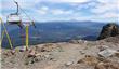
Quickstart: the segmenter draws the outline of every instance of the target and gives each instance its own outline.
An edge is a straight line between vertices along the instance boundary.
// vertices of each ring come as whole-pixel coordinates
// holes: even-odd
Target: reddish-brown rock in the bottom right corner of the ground
[[[119,69],[119,63],[111,63],[111,61],[107,61],[107,63],[98,63],[94,69]]]

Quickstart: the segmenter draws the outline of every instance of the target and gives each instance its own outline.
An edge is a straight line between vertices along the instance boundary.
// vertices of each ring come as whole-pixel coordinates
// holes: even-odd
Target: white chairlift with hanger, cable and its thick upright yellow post
[[[13,0],[14,1],[14,0]],[[8,24],[12,24],[12,25],[17,25],[19,26],[22,29],[24,29],[25,27],[25,34],[21,34],[21,38],[26,38],[26,49],[28,49],[29,45],[29,26],[32,25],[36,28],[35,23],[31,20],[31,18],[25,13],[25,11],[18,5],[18,3],[16,1],[14,1],[14,3],[17,5],[17,11],[16,13],[11,13],[8,17],[6,17],[6,22]],[[25,23],[22,20],[22,18],[19,17],[19,10],[24,12],[24,14],[26,15],[26,17],[28,18],[28,20]],[[22,30],[21,29],[21,30]],[[11,44],[11,42],[10,42]],[[12,44],[11,44],[12,45]]]

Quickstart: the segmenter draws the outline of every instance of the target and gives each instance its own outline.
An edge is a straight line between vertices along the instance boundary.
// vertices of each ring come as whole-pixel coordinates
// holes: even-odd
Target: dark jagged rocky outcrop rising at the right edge
[[[97,40],[115,36],[119,36],[119,26],[117,24],[107,24],[103,27]]]

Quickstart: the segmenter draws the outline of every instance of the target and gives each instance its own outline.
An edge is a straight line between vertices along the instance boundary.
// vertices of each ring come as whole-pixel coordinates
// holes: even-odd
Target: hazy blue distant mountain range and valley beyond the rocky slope
[[[29,27],[29,43],[64,42],[72,39],[95,40],[104,25],[104,23],[96,22],[36,22],[36,29],[32,26]],[[25,44],[23,43],[25,38],[21,38],[25,36],[25,30],[21,31],[16,25],[9,25],[6,28],[14,46]],[[4,37],[2,46],[6,47],[8,45],[6,37]]]

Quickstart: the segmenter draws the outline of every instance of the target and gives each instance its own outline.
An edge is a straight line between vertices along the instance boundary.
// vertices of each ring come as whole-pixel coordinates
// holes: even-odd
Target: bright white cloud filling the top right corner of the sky
[[[117,12],[119,11],[119,0],[97,0],[100,2],[95,8],[91,9],[92,13],[102,14],[107,12]]]

